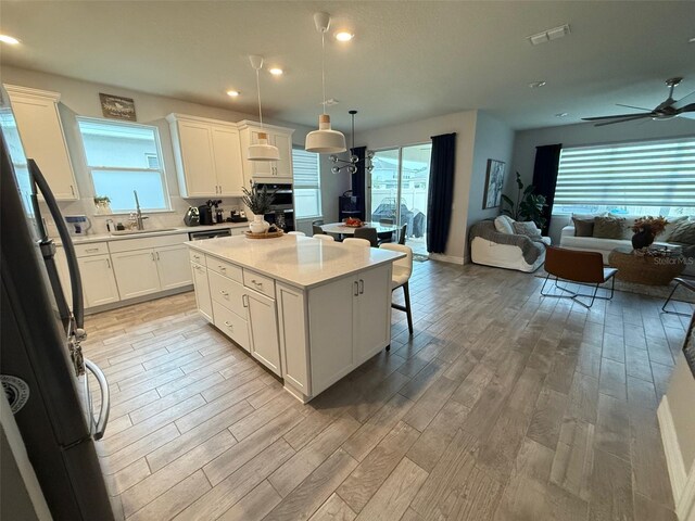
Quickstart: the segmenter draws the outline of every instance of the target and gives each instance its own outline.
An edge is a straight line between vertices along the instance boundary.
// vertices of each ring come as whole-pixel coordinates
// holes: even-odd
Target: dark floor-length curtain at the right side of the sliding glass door
[[[427,251],[444,253],[454,200],[456,134],[432,137],[430,189],[427,201]]]

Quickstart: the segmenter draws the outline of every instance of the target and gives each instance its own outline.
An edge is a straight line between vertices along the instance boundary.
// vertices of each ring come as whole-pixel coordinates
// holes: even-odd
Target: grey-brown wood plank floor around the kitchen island
[[[305,406],[192,293],[88,317],[128,520],[674,521],[656,407],[685,319],[541,283],[415,263],[415,334],[394,312],[391,352]]]

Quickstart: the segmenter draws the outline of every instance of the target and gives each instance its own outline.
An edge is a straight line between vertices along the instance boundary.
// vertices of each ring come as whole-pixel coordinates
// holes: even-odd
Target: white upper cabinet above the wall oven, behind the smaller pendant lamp
[[[243,176],[247,183],[256,182],[292,182],[292,130],[291,128],[263,125],[243,120],[238,123],[241,137],[241,155],[243,157]],[[268,135],[268,144],[278,148],[280,161],[249,161],[249,145],[258,142],[258,134]]]

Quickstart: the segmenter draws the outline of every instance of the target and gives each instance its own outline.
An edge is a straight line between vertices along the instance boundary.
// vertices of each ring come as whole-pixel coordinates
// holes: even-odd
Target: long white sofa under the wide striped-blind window
[[[604,264],[608,265],[608,255],[610,255],[610,252],[612,250],[615,250],[616,247],[632,247],[632,226],[634,224],[634,220],[641,216],[620,215],[619,217],[624,217],[626,219],[626,228],[620,239],[576,237],[574,225],[570,224],[569,226],[563,228],[563,231],[560,232],[560,247],[579,250],[582,252],[598,252],[604,257]],[[664,233],[657,237],[657,240],[654,242],[654,244],[657,246],[681,246],[683,250],[683,255],[688,259],[693,259],[693,257],[695,257],[695,245],[678,242],[667,242],[665,239],[668,239],[670,231],[670,228],[667,228]],[[659,239],[662,240],[659,241]],[[691,260],[686,264],[683,275],[691,277],[695,276],[695,262]]]

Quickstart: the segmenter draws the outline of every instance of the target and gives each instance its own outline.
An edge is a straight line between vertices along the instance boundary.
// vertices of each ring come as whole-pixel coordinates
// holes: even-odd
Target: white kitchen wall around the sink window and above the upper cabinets
[[[74,203],[60,203],[61,211],[64,214],[87,214],[89,216],[93,216],[93,188],[85,165],[81,139],[75,117],[103,117],[99,101],[100,92],[132,98],[135,101],[138,123],[154,125],[159,128],[162,155],[166,170],[166,181],[172,200],[173,212],[150,214],[150,221],[148,225],[153,228],[159,226],[181,226],[186,208],[189,205],[200,205],[205,202],[204,200],[193,199],[182,200],[179,196],[178,181],[176,179],[176,166],[174,163],[174,151],[172,148],[172,137],[169,134],[168,123],[164,117],[169,113],[176,112],[226,122],[239,122],[241,119],[255,120],[257,118],[256,115],[244,114],[233,110],[201,105],[174,98],[153,96],[36,71],[2,66],[0,68],[0,74],[2,82],[4,84],[49,90],[60,92],[61,94],[59,110],[65,128],[65,138],[71,151],[75,176],[77,178],[77,186],[81,198],[80,201]],[[232,104],[233,102],[230,102],[230,106]],[[304,147],[306,134],[313,130],[308,127],[286,122],[268,120],[268,123],[294,128],[295,130],[292,136],[292,141],[294,144],[300,147]],[[338,218],[338,195],[349,189],[349,180],[341,179],[331,174],[327,156],[321,156],[321,199],[325,204],[324,216],[327,220],[336,220]],[[236,198],[223,201],[223,207],[225,209],[232,209],[239,205],[240,201]],[[106,217],[94,217],[92,219],[94,223],[92,231],[98,233],[105,232],[105,219]],[[125,219],[125,217],[114,217],[114,220],[116,219]]]

